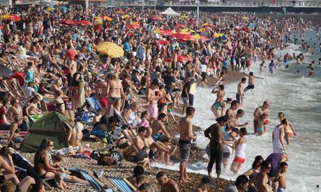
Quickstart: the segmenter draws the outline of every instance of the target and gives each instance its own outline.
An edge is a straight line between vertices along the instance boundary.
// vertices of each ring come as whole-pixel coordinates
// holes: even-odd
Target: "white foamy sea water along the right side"
[[[255,89],[245,93],[244,104],[239,109],[245,111],[244,118],[240,123],[248,122],[248,136],[246,136],[246,162],[237,175],[243,174],[251,168],[255,156],[262,155],[265,159],[273,152],[272,130],[280,123],[278,112],[285,113],[285,117],[290,120],[297,136],[290,138],[290,145],[285,144],[285,152],[288,153],[288,185],[290,192],[312,192],[318,191],[317,184],[321,186],[321,67],[318,66],[318,57],[321,57],[319,43],[315,38],[315,31],[307,31],[305,39],[309,45],[313,46],[317,42],[315,57],[305,54],[306,60],[302,65],[297,65],[296,61],[288,63],[290,67],[285,69],[285,63],[277,62],[281,67],[269,74],[267,68],[259,74],[260,63],[254,63],[251,71],[255,76],[264,79],[255,79]],[[312,40],[310,40],[312,38]],[[288,45],[286,49],[278,50],[277,56],[282,58],[286,53],[299,54],[304,52],[299,49],[299,45]],[[308,77],[308,63],[315,60],[315,77]],[[268,65],[269,63],[266,63]],[[294,74],[297,69],[301,69],[302,74]],[[225,86],[226,97],[235,99],[237,93],[237,83],[230,83]],[[195,117],[193,124],[200,126],[202,130],[207,129],[215,123],[214,115],[211,112],[211,104],[214,103],[216,95],[211,94],[210,88],[197,88],[195,95]],[[267,125],[267,133],[263,136],[253,134],[253,112],[257,106],[261,106],[264,101],[269,101],[270,121]],[[197,133],[196,144],[203,149],[209,140],[204,137],[204,132]],[[204,157],[207,155],[204,152]],[[234,154],[230,157],[230,164],[234,159]],[[236,179],[230,171],[230,164],[223,171],[221,177],[225,179]],[[165,166],[154,163],[153,166],[179,170],[179,164]],[[223,165],[222,165],[223,168]],[[214,166],[215,169],[215,166]],[[188,166],[189,172],[207,174],[207,163],[198,162]],[[213,171],[214,175],[215,170]]]

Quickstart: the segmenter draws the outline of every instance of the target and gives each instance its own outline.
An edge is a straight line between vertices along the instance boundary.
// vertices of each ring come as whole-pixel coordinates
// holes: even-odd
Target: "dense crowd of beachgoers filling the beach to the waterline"
[[[47,111],[56,111],[73,124],[74,129],[68,130],[70,145],[82,145],[84,139],[104,142],[108,134],[117,135],[117,147],[132,148],[126,155],[132,156],[138,166],[150,166],[152,159],[170,163],[178,145],[180,181],[188,182],[186,168],[191,141],[197,139],[191,122],[195,114],[194,97],[197,86],[214,86],[212,93],[217,97],[211,111],[216,123],[204,131],[210,140],[209,177],[203,177],[194,191],[209,191],[214,163],[217,177],[221,177],[221,163],[227,166],[233,150],[235,157],[230,168],[233,173],[238,173],[246,159],[248,123],[239,121],[245,112],[238,108],[245,102],[244,93],[255,88],[255,79],[261,79],[251,72],[252,60],[274,63],[276,48],[285,46],[283,39],[286,36],[288,41],[290,31],[300,32],[312,26],[311,22],[291,17],[261,19],[213,13],[200,13],[197,24],[193,15],[183,12],[186,17],[156,19],[154,10],[90,6],[86,12],[79,5],[57,6],[51,11],[41,7],[1,7],[1,13],[20,14],[17,20],[3,19],[0,33],[1,63],[16,74],[22,73],[19,80],[22,89],[7,86],[10,79],[17,77],[2,77],[0,82],[0,127],[9,131],[10,147],[23,141],[21,131],[28,131]],[[81,21],[91,24],[73,24]],[[114,42],[124,50],[124,56],[115,58],[96,51],[100,42]],[[261,67],[260,72],[264,64]],[[274,67],[269,65],[269,72],[273,73]],[[236,98],[225,99],[224,80],[234,71],[245,70],[249,73],[244,73],[238,84]],[[248,77],[246,87],[245,77]],[[214,83],[209,85],[208,79]],[[98,109],[86,98],[98,102]],[[257,135],[265,132],[268,108],[269,103],[264,102],[253,113]],[[167,127],[169,122],[178,122],[174,111],[185,114],[179,120],[178,142]],[[88,115],[85,112],[94,114],[91,115],[94,126],[86,133],[80,122]],[[279,118],[281,124],[273,131],[275,154],[284,150],[283,137],[290,143],[290,136],[295,134],[283,113]],[[52,141],[45,139],[36,152],[34,164],[40,177],[55,178],[61,189],[68,188],[65,183],[68,179],[88,184],[58,166],[61,157],[50,153],[52,146]],[[269,177],[269,183],[278,183],[285,189],[287,165],[273,163],[276,175],[273,179]],[[265,181],[269,167],[271,161],[255,163],[255,170],[245,174],[252,177],[251,181],[240,176],[228,190],[245,189],[250,182],[258,191],[269,191]],[[165,177],[165,173],[156,176],[164,187],[162,191],[176,189],[174,181]],[[15,179],[13,183],[20,187],[21,182]],[[140,182],[137,189],[149,191],[149,184]]]

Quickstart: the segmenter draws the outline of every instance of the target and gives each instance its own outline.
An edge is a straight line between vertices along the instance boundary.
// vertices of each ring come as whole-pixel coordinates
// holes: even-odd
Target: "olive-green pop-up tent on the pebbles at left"
[[[72,130],[68,120],[61,113],[51,112],[43,115],[29,129],[29,135],[20,145],[22,152],[36,152],[44,138],[54,141],[54,149],[68,147],[68,133]]]

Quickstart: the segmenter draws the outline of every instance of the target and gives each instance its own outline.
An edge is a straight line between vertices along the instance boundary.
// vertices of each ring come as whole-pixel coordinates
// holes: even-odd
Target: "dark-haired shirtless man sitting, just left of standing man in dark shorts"
[[[157,116],[157,120],[151,123],[151,128],[153,129],[153,139],[154,141],[166,142],[173,139],[170,134],[168,134],[164,122],[166,122],[167,116],[165,113],[160,113]]]

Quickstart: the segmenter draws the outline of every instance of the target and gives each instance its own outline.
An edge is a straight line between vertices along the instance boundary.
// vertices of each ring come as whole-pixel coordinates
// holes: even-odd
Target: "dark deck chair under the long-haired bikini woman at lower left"
[[[17,167],[19,167],[19,169],[17,170],[26,170],[27,175],[33,177],[35,180],[39,180],[45,187],[47,187],[47,189],[50,189],[50,191],[54,190],[54,188],[48,183],[50,180],[54,178],[42,179],[40,175],[38,175],[38,173],[36,173],[36,171],[33,169],[31,163],[26,158],[24,158],[19,152],[17,152],[13,148],[10,148],[10,152],[13,153],[13,163],[15,163]]]

